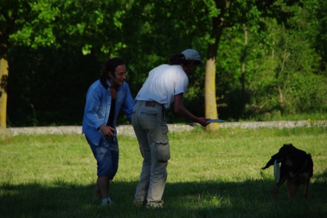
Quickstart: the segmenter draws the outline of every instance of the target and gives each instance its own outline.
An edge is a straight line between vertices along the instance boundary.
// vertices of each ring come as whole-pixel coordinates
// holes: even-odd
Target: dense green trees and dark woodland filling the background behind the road
[[[207,105],[226,120],[326,111],[326,9],[323,0],[2,1],[7,121],[80,124],[106,59],[126,60],[135,96],[149,70],[190,47],[207,62],[185,95],[198,116]]]

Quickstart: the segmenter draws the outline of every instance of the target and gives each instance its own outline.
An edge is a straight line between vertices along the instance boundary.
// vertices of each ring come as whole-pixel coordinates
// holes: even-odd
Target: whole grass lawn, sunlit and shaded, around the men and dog
[[[170,133],[171,160],[162,209],[132,207],[142,158],[137,141],[119,137],[120,166],[111,183],[114,204],[93,202],[96,161],[83,135],[18,135],[0,139],[1,217],[326,217],[327,131],[196,128]],[[261,172],[284,143],[311,153],[309,199],[302,186],[275,200],[273,169]]]

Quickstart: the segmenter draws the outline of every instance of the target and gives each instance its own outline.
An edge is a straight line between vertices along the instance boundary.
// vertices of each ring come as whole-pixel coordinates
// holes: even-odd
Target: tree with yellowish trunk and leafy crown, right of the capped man
[[[282,9],[287,4],[296,1],[160,1],[156,3],[143,2],[144,8],[150,8],[153,13],[145,14],[146,21],[150,23],[152,35],[160,35],[166,39],[174,33],[174,39],[182,39],[182,45],[187,45],[203,51],[206,50],[205,62],[205,116],[218,118],[216,97],[216,66],[217,53],[225,29],[240,30],[250,26],[250,31],[259,31],[264,28],[263,17],[276,17],[278,21],[285,21],[289,14]],[[170,6],[174,5],[173,8]],[[187,10],[185,10],[187,5]],[[190,16],[192,15],[192,16]],[[159,26],[166,28],[156,29]],[[167,29],[167,26],[171,25]],[[177,35],[177,37],[176,37]],[[151,35],[148,36],[151,38]],[[165,41],[165,40],[163,40]],[[168,40],[169,41],[169,40]],[[179,42],[179,41],[178,41]],[[181,46],[177,45],[176,48]],[[205,48],[206,46],[206,48]],[[200,52],[201,53],[201,52]],[[243,63],[245,65],[245,62]],[[245,73],[245,72],[244,72]],[[218,123],[208,125],[206,130],[216,131]]]

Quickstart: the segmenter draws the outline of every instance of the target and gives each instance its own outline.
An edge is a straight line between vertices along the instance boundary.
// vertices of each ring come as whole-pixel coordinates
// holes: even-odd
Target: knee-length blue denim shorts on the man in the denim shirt
[[[112,180],[118,171],[119,149],[117,138],[102,135],[98,146],[90,143],[87,137],[86,140],[97,160],[97,175],[109,176],[109,179]]]

